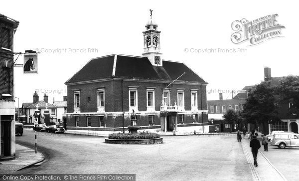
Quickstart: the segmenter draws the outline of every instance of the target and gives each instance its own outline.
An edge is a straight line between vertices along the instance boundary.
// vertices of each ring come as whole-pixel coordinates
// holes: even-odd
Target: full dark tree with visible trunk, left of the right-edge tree
[[[271,81],[264,81],[248,91],[248,98],[243,105],[242,117],[247,123],[263,124],[264,133],[269,121],[280,121],[276,106],[277,86]]]

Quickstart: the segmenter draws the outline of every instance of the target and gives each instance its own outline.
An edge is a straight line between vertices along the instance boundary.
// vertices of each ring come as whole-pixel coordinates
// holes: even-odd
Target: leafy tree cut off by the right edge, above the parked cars
[[[277,88],[280,103],[293,103],[289,110],[289,114],[297,114],[299,116],[299,76],[287,76],[281,80],[280,86]]]

